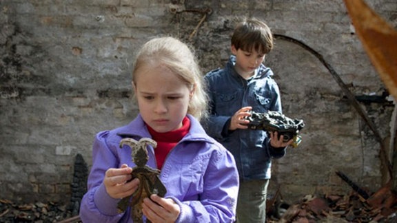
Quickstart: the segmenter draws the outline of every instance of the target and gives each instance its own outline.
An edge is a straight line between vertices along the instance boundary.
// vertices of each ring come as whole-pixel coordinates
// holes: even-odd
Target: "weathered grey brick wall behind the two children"
[[[397,27],[397,2],[367,3]],[[208,72],[230,54],[241,16],[312,47],[356,96],[385,87],[354,34],[342,0],[0,0],[0,191],[10,200],[69,202],[77,153],[91,164],[96,132],[130,122],[138,109],[130,72],[153,36],[191,43]],[[314,54],[276,39],[274,70],[287,116],[303,118],[303,142],[275,160],[269,187],[294,202],[349,193],[340,170],[371,191],[381,185],[379,143]],[[383,139],[394,105],[360,103]]]

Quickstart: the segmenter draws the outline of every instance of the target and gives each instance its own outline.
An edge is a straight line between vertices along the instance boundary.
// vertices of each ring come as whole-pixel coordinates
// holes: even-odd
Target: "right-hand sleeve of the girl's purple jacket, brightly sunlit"
[[[234,222],[238,195],[238,172],[232,154],[216,150],[203,178],[199,200],[175,202],[181,207],[176,222]]]

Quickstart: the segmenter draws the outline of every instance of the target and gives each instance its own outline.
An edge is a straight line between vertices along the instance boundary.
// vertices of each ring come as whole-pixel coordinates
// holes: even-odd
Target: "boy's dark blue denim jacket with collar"
[[[268,67],[261,64],[254,76],[245,80],[234,70],[235,60],[235,56],[230,56],[223,69],[212,70],[205,75],[210,96],[210,118],[203,126],[207,134],[232,152],[240,180],[269,179],[271,159],[285,156],[285,148],[270,146],[266,131],[227,131],[227,128],[230,118],[242,107],[251,106],[256,112],[281,112],[280,92]]]

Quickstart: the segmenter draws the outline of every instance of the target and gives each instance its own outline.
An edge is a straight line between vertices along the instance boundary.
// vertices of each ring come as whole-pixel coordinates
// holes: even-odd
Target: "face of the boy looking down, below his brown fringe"
[[[256,50],[250,52],[241,50],[241,48],[237,50],[234,45],[232,45],[232,54],[236,56],[236,65],[234,66],[236,71],[245,78],[252,76],[265,59],[265,54],[256,52]]]

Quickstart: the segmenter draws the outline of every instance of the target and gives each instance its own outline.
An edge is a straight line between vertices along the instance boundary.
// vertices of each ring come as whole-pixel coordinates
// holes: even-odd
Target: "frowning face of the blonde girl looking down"
[[[132,83],[145,123],[157,132],[182,127],[192,90],[167,67],[145,65]]]

